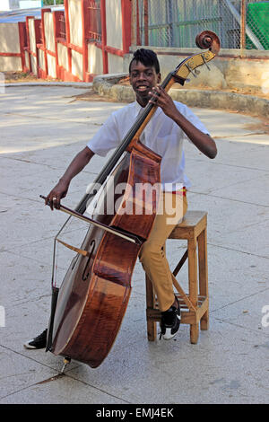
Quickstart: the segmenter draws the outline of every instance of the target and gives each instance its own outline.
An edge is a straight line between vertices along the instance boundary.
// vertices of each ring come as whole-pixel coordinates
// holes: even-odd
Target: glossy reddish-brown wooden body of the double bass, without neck
[[[133,233],[142,242],[147,239],[157,212],[158,194],[153,196],[152,212],[147,214],[149,198],[145,198],[143,189],[139,192],[135,186],[158,187],[160,163],[158,154],[137,143],[112,173],[115,186],[126,183],[122,198],[115,196],[120,203],[117,212],[95,215],[95,220]],[[129,210],[135,208],[133,215],[126,214],[127,204]],[[99,207],[103,208],[102,204]],[[140,207],[138,213],[137,207]],[[126,312],[140,247],[100,228],[89,228],[82,243],[82,250],[88,254],[77,254],[59,290],[51,352],[92,368],[100,365],[117,337]]]

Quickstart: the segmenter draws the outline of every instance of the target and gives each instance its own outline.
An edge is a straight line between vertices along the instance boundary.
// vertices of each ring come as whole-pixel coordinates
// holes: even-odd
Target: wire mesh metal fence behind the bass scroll
[[[221,48],[269,49],[269,1],[134,0],[133,42],[195,47],[197,33],[217,33]]]

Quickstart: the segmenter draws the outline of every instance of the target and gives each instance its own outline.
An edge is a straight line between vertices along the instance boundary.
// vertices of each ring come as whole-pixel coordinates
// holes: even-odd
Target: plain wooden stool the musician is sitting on
[[[173,274],[176,277],[188,259],[188,293],[184,292],[178,282],[175,282],[174,286],[178,290],[176,296],[181,309],[181,323],[190,324],[192,344],[196,344],[199,338],[199,322],[201,330],[208,330],[209,323],[206,225],[206,212],[187,211],[182,223],[178,224],[169,235],[169,239],[187,240],[187,251],[179,260]],[[154,341],[157,334],[156,321],[161,321],[161,311],[158,309],[157,297],[148,277],[146,277],[146,303],[148,340]]]

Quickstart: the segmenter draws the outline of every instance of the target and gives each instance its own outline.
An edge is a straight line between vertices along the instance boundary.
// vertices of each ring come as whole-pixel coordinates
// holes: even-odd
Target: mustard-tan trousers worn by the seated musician
[[[169,234],[187,212],[187,198],[182,192],[162,192],[152,232],[139,254],[139,259],[156,292],[159,309],[167,311],[175,301],[173,274],[163,246]]]

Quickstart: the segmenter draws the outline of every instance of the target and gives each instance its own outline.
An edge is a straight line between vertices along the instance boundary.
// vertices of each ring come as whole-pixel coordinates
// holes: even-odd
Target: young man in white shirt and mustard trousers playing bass
[[[136,101],[112,113],[89,144],[74,157],[65,174],[46,199],[50,207],[59,208],[70,182],[88,164],[94,154],[105,156],[117,147],[133,126],[140,111],[154,102],[158,109],[143,130],[141,142],[161,155],[160,209],[152,232],[140,251],[139,259],[158,297],[161,310],[161,335],[173,338],[180,324],[180,308],[173,291],[173,275],[165,257],[163,245],[178,221],[187,211],[186,188],[190,186],[184,172],[183,141],[188,138],[202,153],[214,158],[217,149],[203,123],[184,104],[173,101],[161,83],[160,65],[156,54],[149,49],[138,49],[129,66],[130,83]],[[152,100],[151,100],[152,99]],[[178,213],[179,208],[179,213]],[[46,347],[46,330],[27,343],[27,348]]]

